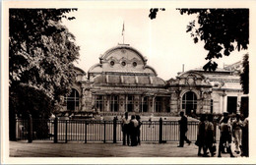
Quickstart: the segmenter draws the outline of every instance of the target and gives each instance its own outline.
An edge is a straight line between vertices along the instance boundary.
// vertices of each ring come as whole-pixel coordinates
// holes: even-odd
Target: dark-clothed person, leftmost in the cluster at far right
[[[204,148],[205,145],[205,122],[206,122],[206,115],[202,114],[200,117],[200,122],[198,124],[197,129],[197,140],[196,145],[198,146],[198,156],[203,156],[201,153],[202,148]]]

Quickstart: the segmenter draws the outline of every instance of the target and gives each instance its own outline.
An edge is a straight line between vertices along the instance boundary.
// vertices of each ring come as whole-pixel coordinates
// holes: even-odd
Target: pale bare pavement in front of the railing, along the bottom
[[[185,143],[184,147],[177,147],[177,145],[178,141],[161,144],[142,142],[138,146],[126,146],[120,142],[10,141],[10,157],[198,157],[198,148],[194,143],[190,145]],[[232,150],[233,148],[234,146]],[[229,157],[229,154],[222,154],[222,156]],[[217,155],[215,157],[217,158]]]

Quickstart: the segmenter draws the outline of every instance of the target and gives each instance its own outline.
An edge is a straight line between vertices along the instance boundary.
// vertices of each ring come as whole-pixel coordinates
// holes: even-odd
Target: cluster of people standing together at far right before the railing
[[[240,120],[240,115],[236,114],[234,121],[228,117],[228,113],[224,113],[220,120],[219,129],[221,131],[218,157],[222,157],[222,153],[229,153],[230,157],[234,157],[231,150],[232,137],[235,143],[234,152],[241,153],[241,156],[248,156],[248,119]],[[208,150],[211,156],[216,153],[216,124],[213,122],[213,115],[201,115],[198,124],[198,134],[196,145],[198,145],[198,156],[208,157]],[[203,153],[201,150],[203,149]]]

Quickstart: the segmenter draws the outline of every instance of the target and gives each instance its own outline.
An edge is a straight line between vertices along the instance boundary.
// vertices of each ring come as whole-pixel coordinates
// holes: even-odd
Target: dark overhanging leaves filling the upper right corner
[[[191,21],[186,32],[191,32],[195,43],[205,42],[209,51],[206,60],[228,56],[237,49],[247,49],[249,44],[248,9],[179,9],[180,14],[197,14],[197,24]],[[198,26],[197,26],[198,25]],[[213,70],[211,65],[204,68]],[[215,67],[215,66],[214,66]]]

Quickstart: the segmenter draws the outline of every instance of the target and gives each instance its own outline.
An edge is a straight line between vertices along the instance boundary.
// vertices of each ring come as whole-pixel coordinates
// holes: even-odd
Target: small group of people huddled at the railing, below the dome
[[[141,125],[139,115],[132,115],[131,120],[128,119],[128,112],[122,118],[123,145],[136,146],[141,144]],[[131,143],[130,143],[131,141]]]

